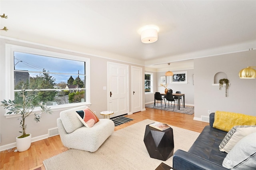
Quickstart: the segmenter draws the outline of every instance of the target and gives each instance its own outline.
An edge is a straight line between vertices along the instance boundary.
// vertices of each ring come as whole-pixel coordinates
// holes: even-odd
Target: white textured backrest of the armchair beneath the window
[[[83,127],[84,124],[77,117],[76,111],[88,108],[87,106],[80,106],[73,109],[68,109],[60,112],[60,119],[66,130],[66,132],[71,133],[74,130]]]

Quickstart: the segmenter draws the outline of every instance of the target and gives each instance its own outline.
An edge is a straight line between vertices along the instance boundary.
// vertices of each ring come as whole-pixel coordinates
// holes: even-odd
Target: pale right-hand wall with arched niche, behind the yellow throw
[[[256,79],[238,76],[247,66],[256,66],[256,50],[194,59],[194,119],[201,119],[201,115],[208,117],[208,110],[256,116]],[[228,77],[228,97],[224,86],[219,90],[219,86],[212,85],[218,72]]]

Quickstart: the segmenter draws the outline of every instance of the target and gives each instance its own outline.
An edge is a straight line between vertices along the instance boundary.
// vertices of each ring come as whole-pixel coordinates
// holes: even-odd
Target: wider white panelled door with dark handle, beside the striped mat
[[[128,113],[128,65],[108,62],[108,110],[111,117]]]

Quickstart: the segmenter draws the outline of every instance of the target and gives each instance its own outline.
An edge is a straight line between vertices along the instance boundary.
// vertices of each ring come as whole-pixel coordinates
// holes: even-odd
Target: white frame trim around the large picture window
[[[5,98],[7,99],[14,99],[14,51],[22,52],[22,53],[31,53],[35,55],[43,55],[43,56],[49,56],[49,57],[56,57],[56,58],[62,58],[62,59],[74,59],[78,61],[84,61],[86,62],[86,67],[85,67],[85,73],[86,73],[86,102],[83,103],[70,103],[70,104],[65,104],[65,105],[56,105],[56,106],[51,106],[52,111],[57,111],[57,110],[62,110],[62,109],[68,109],[80,105],[91,105],[90,102],[90,58],[86,57],[80,57],[76,55],[69,55],[65,53],[60,53],[60,52],[53,52],[53,51],[46,51],[42,49],[36,49],[36,48],[31,48],[31,47],[24,47],[20,45],[13,45],[13,44],[7,44],[6,43],[6,48],[5,48],[5,83],[6,83],[6,91],[5,91]],[[7,109],[6,113],[8,112]],[[40,111],[39,109],[35,109],[34,112]],[[20,117],[19,114],[4,114],[6,118],[11,118],[11,117]]]

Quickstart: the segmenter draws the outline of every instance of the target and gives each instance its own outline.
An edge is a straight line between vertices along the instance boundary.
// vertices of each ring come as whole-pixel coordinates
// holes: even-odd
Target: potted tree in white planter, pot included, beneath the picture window
[[[18,120],[20,120],[20,128],[22,128],[21,136],[16,138],[17,150],[19,152],[28,150],[31,145],[31,134],[26,133],[26,124],[25,119],[29,115],[34,115],[34,120],[36,122],[40,121],[42,113],[50,113],[50,108],[48,108],[42,101],[37,102],[37,96],[33,93],[28,93],[26,91],[28,87],[26,84],[21,85],[21,91],[18,92],[19,97],[21,97],[21,102],[16,102],[15,100],[4,100],[1,101],[1,106],[4,106],[4,109],[8,109],[7,114],[20,114]],[[33,112],[35,109],[40,109],[39,113]]]

